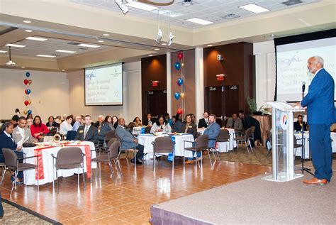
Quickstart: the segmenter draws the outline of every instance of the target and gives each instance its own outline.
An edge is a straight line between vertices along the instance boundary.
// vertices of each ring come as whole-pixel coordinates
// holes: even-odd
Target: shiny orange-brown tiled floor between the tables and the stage
[[[171,163],[163,158],[156,163],[153,172],[152,160],[137,167],[121,160],[123,177],[111,177],[108,166],[103,165],[101,180],[86,180],[83,191],[82,177],[79,187],[77,176],[60,178],[60,193],[52,191],[52,185],[40,186],[37,194],[35,186],[18,189],[9,196],[11,182],[5,177],[2,197],[28,207],[63,224],[149,224],[150,206],[166,202],[187,194],[236,182],[268,172],[271,168],[222,161],[213,168],[205,158],[203,170],[195,170],[194,165],[183,169],[177,160],[174,172]],[[94,172],[93,172],[94,175]]]

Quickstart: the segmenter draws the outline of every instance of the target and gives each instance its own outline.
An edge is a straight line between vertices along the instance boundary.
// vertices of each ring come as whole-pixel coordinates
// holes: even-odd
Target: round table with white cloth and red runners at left
[[[87,172],[87,166],[91,165],[91,168],[96,168],[96,163],[91,163],[91,157],[96,157],[96,152],[91,150],[95,150],[94,143],[89,141],[82,141],[81,143],[77,143],[77,141],[72,143],[67,143],[66,146],[47,146],[50,143],[44,143],[45,146],[35,146],[31,148],[22,148],[23,153],[25,153],[26,157],[33,156],[36,154],[41,154],[42,157],[39,158],[38,163],[42,165],[40,166],[40,180],[39,185],[44,185],[46,183],[52,182],[54,180],[54,177],[56,178],[56,175],[53,175],[53,163],[52,163],[52,155],[54,154],[55,157],[57,157],[57,153],[61,148],[67,148],[67,147],[79,147],[82,149],[82,152],[86,154],[86,156],[90,157],[89,164],[86,165],[86,156],[84,156],[84,172]],[[26,163],[32,163],[36,164],[36,158],[29,158],[26,160]],[[37,181],[37,170],[26,170],[24,173],[25,177],[25,184],[26,185],[38,185]],[[43,173],[43,176],[41,175],[41,171]],[[58,177],[70,177],[74,175],[74,173],[82,173],[82,169],[72,169],[72,170],[58,170]],[[42,177],[41,177],[42,176]]]

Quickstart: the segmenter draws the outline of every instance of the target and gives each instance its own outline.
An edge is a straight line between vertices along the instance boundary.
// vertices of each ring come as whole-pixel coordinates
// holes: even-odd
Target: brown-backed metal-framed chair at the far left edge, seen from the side
[[[38,155],[33,155],[30,157],[23,157],[23,158],[18,158],[18,155],[14,153],[13,150],[9,148],[2,148],[2,153],[4,154],[4,160],[5,160],[5,170],[4,174],[2,175],[2,179],[4,180],[4,176],[6,173],[6,170],[13,170],[14,171],[14,181],[13,185],[11,187],[11,193],[13,192],[13,189],[16,189],[16,179],[18,178],[18,172],[25,171],[25,170],[33,170],[38,168],[38,180],[39,180],[39,166],[35,164],[30,164],[30,163],[20,163],[20,160],[26,160],[28,158],[38,158]],[[24,177],[23,177],[24,179]],[[1,182],[2,185],[2,182]],[[38,191],[40,190],[40,186],[38,184]]]

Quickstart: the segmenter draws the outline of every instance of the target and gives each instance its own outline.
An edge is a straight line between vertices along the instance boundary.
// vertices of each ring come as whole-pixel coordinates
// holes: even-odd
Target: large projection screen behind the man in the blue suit
[[[324,67],[335,79],[336,30],[295,35],[274,40],[276,48],[276,101],[301,101],[314,75],[307,69],[308,58],[323,57]],[[336,96],[336,92],[335,92]]]

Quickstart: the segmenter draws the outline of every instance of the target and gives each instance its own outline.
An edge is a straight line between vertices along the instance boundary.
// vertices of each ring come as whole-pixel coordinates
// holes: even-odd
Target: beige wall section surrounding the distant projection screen
[[[93,121],[101,114],[123,117],[128,124],[141,117],[141,62],[123,65],[123,106],[84,106],[84,70],[68,72],[69,111],[74,115],[90,114]]]

